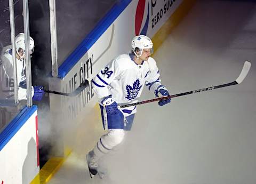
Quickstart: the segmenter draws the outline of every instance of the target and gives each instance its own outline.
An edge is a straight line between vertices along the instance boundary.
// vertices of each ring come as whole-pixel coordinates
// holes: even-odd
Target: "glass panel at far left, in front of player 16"
[[[22,0],[14,1],[14,17],[15,25],[17,25],[16,34],[23,32]],[[9,0],[0,1],[0,52],[0,132],[2,132],[4,127],[26,106],[26,100],[20,100],[18,104],[14,103],[15,84],[12,54],[15,52],[12,51],[11,45]],[[24,85],[25,74],[24,61],[17,60],[19,85],[22,82]],[[24,89],[19,90],[19,93],[22,91],[24,93]],[[18,95],[18,97],[22,97],[22,95]]]

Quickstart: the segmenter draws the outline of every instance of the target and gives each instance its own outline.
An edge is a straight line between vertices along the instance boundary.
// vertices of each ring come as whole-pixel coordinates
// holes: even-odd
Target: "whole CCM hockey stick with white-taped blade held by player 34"
[[[231,82],[231,83],[222,84],[222,85],[218,85],[218,86],[212,86],[212,87],[206,87],[206,88],[199,89],[199,90],[194,90],[194,91],[189,91],[189,92],[179,93],[179,94],[173,94],[173,95],[169,95],[167,97],[155,98],[155,99],[140,101],[137,103],[131,103],[131,104],[127,104],[127,105],[121,105],[120,108],[141,105],[144,103],[149,103],[149,102],[154,102],[154,101],[159,101],[159,100],[166,100],[169,98],[181,97],[181,96],[187,95],[187,94],[194,94],[194,93],[199,93],[202,91],[211,91],[211,90],[218,89],[221,87],[227,87],[227,86],[231,86],[231,85],[241,84],[243,82],[244,78],[246,77],[246,75],[248,74],[250,68],[251,68],[251,62],[245,61],[244,67],[243,67],[240,75],[237,77],[237,79],[234,82]]]

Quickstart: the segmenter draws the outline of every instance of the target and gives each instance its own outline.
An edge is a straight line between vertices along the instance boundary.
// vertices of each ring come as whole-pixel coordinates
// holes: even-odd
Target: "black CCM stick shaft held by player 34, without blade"
[[[137,103],[122,105],[120,107],[124,108],[124,107],[136,106],[136,105],[141,105],[141,104],[144,104],[144,103],[150,103],[150,102],[159,101],[159,100],[166,100],[166,99],[169,99],[169,98],[181,97],[181,96],[187,95],[187,94],[194,94],[194,93],[199,93],[199,92],[202,92],[202,91],[211,91],[211,90],[218,89],[218,88],[221,88],[221,87],[227,87],[227,86],[236,85],[236,84],[238,84],[238,83],[236,81],[234,81],[234,82],[231,82],[231,83],[222,84],[222,85],[218,85],[218,86],[206,87],[206,88],[203,88],[203,89],[188,91],[188,92],[185,92],[185,93],[173,94],[173,95],[170,95],[170,96],[167,96],[167,97],[155,98],[155,99],[140,101],[140,102],[137,102]]]

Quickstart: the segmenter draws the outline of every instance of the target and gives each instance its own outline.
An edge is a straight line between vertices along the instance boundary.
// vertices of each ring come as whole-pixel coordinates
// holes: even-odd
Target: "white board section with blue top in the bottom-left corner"
[[[39,172],[37,107],[25,107],[0,134],[0,183],[30,183]]]

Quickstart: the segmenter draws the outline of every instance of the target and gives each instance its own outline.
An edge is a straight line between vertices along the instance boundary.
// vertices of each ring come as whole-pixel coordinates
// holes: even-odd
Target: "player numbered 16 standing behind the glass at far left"
[[[29,38],[30,54],[34,52],[34,40]],[[13,59],[12,54],[15,54],[17,63],[17,83],[18,83],[18,99],[27,99],[27,85],[26,85],[26,63],[25,63],[25,34],[20,33],[15,37],[15,51],[12,51],[11,45],[4,47],[0,62],[0,98],[1,101],[10,101],[14,99],[14,78],[13,78]],[[33,100],[40,101],[43,97],[44,91],[41,86],[32,87]],[[2,112],[8,113],[8,108],[2,108]],[[9,111],[10,113],[10,111]],[[10,118],[3,118],[2,123],[7,123]],[[6,117],[6,115],[5,115]],[[10,115],[9,115],[10,117]]]

